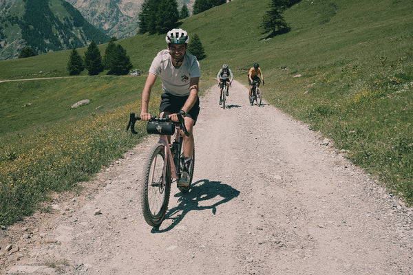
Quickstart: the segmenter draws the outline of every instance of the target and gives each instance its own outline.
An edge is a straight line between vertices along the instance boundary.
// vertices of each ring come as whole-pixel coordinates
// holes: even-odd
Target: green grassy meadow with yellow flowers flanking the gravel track
[[[284,14],[291,31],[267,39],[260,23],[269,2],[235,0],[182,21],[207,54],[201,91],[215,83],[222,63],[245,85],[247,70],[260,63],[268,102],[334,140],[411,204],[413,2],[302,0]],[[165,38],[143,34],[117,43],[142,76],[69,77],[70,51],[0,61],[0,81],[64,77],[0,83],[1,225],[30,214],[50,192],[73,190],[145,135],[144,128],[138,137],[125,133],[125,126],[129,112],[140,109],[145,74]],[[102,55],[105,47],[99,45]],[[159,96],[160,81],[154,112]],[[84,99],[91,102],[70,107]]]

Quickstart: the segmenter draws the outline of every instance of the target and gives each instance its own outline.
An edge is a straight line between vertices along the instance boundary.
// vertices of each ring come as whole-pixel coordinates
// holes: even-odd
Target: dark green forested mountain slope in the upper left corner
[[[0,0],[0,59],[16,58],[25,47],[35,54],[85,47],[109,36],[63,0]]]

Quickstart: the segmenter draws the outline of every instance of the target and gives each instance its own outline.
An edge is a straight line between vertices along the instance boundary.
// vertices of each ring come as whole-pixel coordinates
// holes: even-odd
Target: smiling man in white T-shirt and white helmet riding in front
[[[149,74],[142,91],[142,109],[140,118],[150,120],[148,113],[149,98],[151,89],[156,78],[160,76],[162,80],[162,90],[160,102],[160,116],[167,117],[178,122],[176,113],[184,112],[184,123],[189,137],[184,135],[184,159],[182,166],[182,177],[180,186],[189,186],[189,168],[192,162],[194,147],[193,125],[200,112],[200,100],[198,98],[198,85],[201,76],[200,65],[195,56],[187,53],[189,36],[182,29],[173,29],[165,37],[168,50],[162,50],[153,59]]]

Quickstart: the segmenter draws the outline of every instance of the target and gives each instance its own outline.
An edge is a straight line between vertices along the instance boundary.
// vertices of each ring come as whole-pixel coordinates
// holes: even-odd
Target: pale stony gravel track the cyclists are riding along
[[[233,83],[225,110],[216,86],[201,99],[195,184],[173,186],[159,229],[140,210],[150,137],[81,195],[1,230],[0,274],[413,274],[412,209],[247,93]]]

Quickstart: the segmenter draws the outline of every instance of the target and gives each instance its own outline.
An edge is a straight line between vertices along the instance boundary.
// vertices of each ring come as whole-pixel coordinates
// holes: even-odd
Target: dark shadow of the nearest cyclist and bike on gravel
[[[152,233],[162,233],[167,232],[174,228],[185,215],[190,211],[196,210],[207,210],[211,209],[213,214],[217,212],[217,206],[220,206],[222,203],[231,201],[231,199],[238,197],[240,191],[232,188],[228,184],[222,184],[221,181],[209,181],[208,179],[202,179],[195,182],[191,186],[191,190],[186,194],[178,193],[175,197],[179,197],[178,206],[168,210],[165,215],[165,220],[172,220],[171,225],[167,228],[159,230],[159,228],[153,228]],[[215,197],[221,197],[220,201],[214,200],[214,203],[207,206],[200,206],[200,202],[209,201]],[[205,203],[203,203],[205,204]]]

